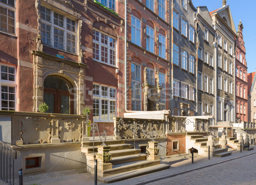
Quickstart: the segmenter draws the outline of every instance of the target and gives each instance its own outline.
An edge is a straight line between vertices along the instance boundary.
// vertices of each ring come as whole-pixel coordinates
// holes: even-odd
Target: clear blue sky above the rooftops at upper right
[[[207,6],[209,12],[221,8],[222,0],[192,0],[195,7]],[[256,71],[256,0],[227,0],[230,6],[231,14],[238,31],[239,20],[241,20],[244,29],[244,45],[246,49],[247,73]]]

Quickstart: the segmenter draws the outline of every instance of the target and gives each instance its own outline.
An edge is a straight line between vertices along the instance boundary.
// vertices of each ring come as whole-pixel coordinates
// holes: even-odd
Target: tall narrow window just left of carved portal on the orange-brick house
[[[141,110],[140,66],[131,63],[131,110]]]

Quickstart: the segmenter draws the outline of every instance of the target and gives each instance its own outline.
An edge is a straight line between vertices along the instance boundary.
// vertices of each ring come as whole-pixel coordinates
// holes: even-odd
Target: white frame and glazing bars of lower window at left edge
[[[7,72],[4,72],[2,68],[6,68],[7,67]],[[10,72],[9,71],[9,68],[11,69],[14,69],[14,73]],[[7,80],[6,79],[2,79],[2,73],[6,74],[6,77],[7,77]],[[16,110],[16,107],[17,107],[17,82],[16,82],[16,78],[17,78],[17,70],[16,70],[16,67],[15,66],[12,66],[12,65],[6,65],[6,64],[0,64],[0,93],[1,93],[1,96],[0,96],[0,110],[12,110],[12,111],[15,111]],[[12,78],[14,79],[14,81],[12,80],[9,80],[9,77],[12,76]],[[7,92],[2,92],[2,86],[5,86],[7,87]],[[9,91],[9,87],[11,88],[14,88],[14,92],[10,92]],[[6,94],[6,98],[7,99],[2,99],[4,97],[3,94]],[[14,95],[14,97],[12,96]],[[13,99],[10,99],[10,98],[14,98]],[[6,101],[8,106],[7,107],[2,107],[2,101]],[[14,107],[10,107],[10,104],[11,102],[14,102]]]

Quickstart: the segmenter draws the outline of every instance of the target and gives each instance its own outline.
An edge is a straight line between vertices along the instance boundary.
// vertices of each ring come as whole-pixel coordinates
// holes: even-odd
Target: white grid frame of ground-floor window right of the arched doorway
[[[99,119],[96,119],[94,118],[94,115],[96,115],[96,111],[93,111],[93,121],[108,121],[108,122],[113,122],[113,119],[111,119],[111,117],[116,117],[116,101],[117,101],[117,98],[116,98],[116,95],[117,95],[117,92],[116,92],[116,87],[113,87],[113,86],[107,86],[107,85],[103,85],[103,84],[97,84],[97,83],[93,83],[93,86],[96,85],[96,86],[99,86],[99,95],[96,95],[96,94],[93,94],[93,101],[94,100],[98,100],[99,101]],[[102,87],[105,87],[107,88],[107,96],[106,95],[102,95]],[[111,97],[111,90],[115,90],[115,97]],[[94,93],[94,90],[93,90],[93,93]],[[102,106],[104,105],[103,104],[103,101],[106,101],[107,102],[107,111],[108,111],[108,119],[104,119],[103,115],[102,115]],[[114,103],[114,105],[111,105],[111,103]],[[112,106],[112,111],[113,111],[113,106],[114,106],[114,115],[111,116],[111,106]],[[95,105],[93,106],[95,107]],[[104,109],[106,110],[106,109]]]

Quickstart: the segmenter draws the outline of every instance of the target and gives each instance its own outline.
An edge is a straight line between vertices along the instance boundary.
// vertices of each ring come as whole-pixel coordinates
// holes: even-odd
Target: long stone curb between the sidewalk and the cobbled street
[[[167,178],[170,178],[170,177],[173,177],[173,176],[181,175],[181,174],[184,174],[184,173],[189,173],[191,171],[200,170],[202,168],[207,168],[207,167],[210,167],[210,166],[218,165],[218,164],[221,164],[221,163],[224,163],[224,162],[232,161],[234,159],[239,159],[239,158],[250,156],[250,155],[253,155],[253,154],[256,154],[256,152],[248,153],[248,154],[246,154],[244,156],[234,157],[232,159],[226,159],[226,160],[223,160],[223,161],[215,162],[215,163],[212,163],[212,164],[209,164],[209,165],[205,165],[205,166],[201,166],[201,167],[198,167],[198,168],[193,168],[191,170],[182,171],[180,173],[175,173],[175,174],[172,174],[172,175],[161,176],[161,177],[158,177],[158,178],[156,177],[156,178],[154,178],[152,180],[144,181],[144,182],[141,182],[141,183],[138,183],[138,184],[135,184],[135,185],[145,185],[145,184],[150,183],[150,182],[155,182],[155,181],[158,181],[158,180],[167,179]]]

